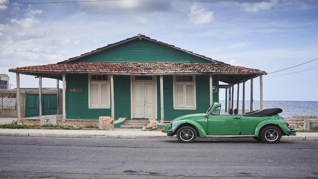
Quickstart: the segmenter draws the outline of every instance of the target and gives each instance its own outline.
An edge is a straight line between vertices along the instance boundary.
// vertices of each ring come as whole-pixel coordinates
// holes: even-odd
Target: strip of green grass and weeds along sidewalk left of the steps
[[[60,129],[60,130],[102,130],[93,125],[89,125],[86,127],[75,127],[72,125],[18,125],[17,121],[12,121],[10,124],[1,124],[1,129]]]

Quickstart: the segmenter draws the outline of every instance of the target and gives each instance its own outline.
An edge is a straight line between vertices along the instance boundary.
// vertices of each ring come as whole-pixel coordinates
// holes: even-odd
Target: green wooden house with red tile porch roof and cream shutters
[[[205,112],[219,101],[219,81],[231,87],[266,74],[141,34],[57,64],[9,71],[63,80],[63,118],[158,120]]]

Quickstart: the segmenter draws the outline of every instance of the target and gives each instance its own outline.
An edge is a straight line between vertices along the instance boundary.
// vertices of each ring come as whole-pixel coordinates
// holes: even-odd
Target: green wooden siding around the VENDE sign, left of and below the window
[[[82,92],[70,92],[82,89]],[[111,109],[88,109],[88,74],[66,74],[66,118],[111,116]]]

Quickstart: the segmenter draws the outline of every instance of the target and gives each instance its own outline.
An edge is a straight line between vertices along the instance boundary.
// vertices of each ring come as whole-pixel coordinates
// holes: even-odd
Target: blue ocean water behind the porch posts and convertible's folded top
[[[225,100],[220,100],[221,109],[225,109]],[[239,109],[242,109],[243,101],[239,100]],[[259,109],[260,102],[254,100],[253,110]],[[234,100],[233,108],[236,108]],[[293,116],[318,116],[318,101],[263,101],[263,109],[281,108],[280,116],[289,118]],[[250,110],[250,101],[245,101],[245,110]]]

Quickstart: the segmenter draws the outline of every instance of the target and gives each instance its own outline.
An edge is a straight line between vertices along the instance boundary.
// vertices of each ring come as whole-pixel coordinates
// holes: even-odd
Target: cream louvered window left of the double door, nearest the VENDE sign
[[[89,108],[110,108],[110,84],[107,75],[90,75]]]

